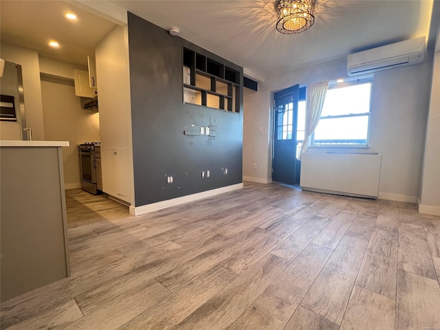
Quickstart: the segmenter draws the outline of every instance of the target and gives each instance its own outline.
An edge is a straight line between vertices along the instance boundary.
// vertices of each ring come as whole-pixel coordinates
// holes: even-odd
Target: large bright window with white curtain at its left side
[[[312,145],[367,146],[372,85],[371,76],[349,83],[331,83]]]

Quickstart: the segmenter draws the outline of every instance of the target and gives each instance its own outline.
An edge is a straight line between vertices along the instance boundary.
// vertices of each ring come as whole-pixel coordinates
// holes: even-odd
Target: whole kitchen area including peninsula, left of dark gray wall
[[[120,69],[124,77],[116,78],[124,86],[115,93],[115,72],[109,67],[113,61],[126,62],[128,67],[128,52],[122,59],[111,54],[114,44],[123,43],[124,28],[63,1],[50,3],[51,10],[42,3],[26,1],[23,7],[16,1],[1,1],[0,58],[6,69],[0,78],[1,301],[69,276],[67,228],[91,221],[78,216],[82,211],[75,207],[69,210],[69,205],[78,204],[76,199],[87,206],[102,197],[104,203],[110,201],[105,208],[127,215],[133,203],[131,137],[126,136],[131,133],[128,71]],[[72,24],[64,17],[67,9],[78,14],[81,24],[75,32],[61,28]],[[30,40],[34,38],[30,29],[43,34],[47,28],[41,21],[54,22],[52,26],[64,34],[61,40],[69,38],[69,42],[61,41],[59,50],[49,50]],[[23,35],[12,33],[17,30]],[[113,42],[111,49],[105,48],[106,40]],[[99,69],[107,79],[102,96],[98,96]],[[104,115],[99,113],[98,97],[109,109]],[[118,108],[121,102],[128,113],[124,120],[113,115],[124,114]],[[107,167],[101,164],[104,157]],[[97,215],[106,219],[106,214],[98,213],[95,221]],[[67,217],[72,217],[72,225]],[[29,221],[32,225],[26,225]]]

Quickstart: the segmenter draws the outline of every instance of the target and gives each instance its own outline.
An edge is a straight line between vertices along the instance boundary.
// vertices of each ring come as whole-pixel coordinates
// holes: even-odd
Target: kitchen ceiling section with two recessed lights
[[[114,23],[64,1],[0,0],[0,12],[1,43],[82,65],[87,65],[87,55],[94,54],[95,45],[115,27]],[[78,20],[67,20],[67,12],[76,13]],[[51,40],[58,41],[61,47],[49,47]]]

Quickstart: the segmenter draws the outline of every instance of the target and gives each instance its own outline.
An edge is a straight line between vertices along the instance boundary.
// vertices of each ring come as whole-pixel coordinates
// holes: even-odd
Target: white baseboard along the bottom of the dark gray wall
[[[158,201],[157,203],[151,203],[136,207],[130,206],[130,214],[141,215],[157,210],[162,210],[163,208],[170,208],[171,206],[177,206],[180,204],[189,203],[190,201],[198,201],[199,199],[212,197],[215,195],[223,194],[223,192],[230,192],[241,188],[243,188],[243,183],[233,184],[232,186],[225,186],[203,192],[197,192],[197,194],[168,199],[167,201]]]

